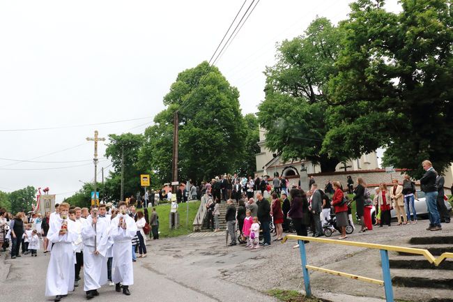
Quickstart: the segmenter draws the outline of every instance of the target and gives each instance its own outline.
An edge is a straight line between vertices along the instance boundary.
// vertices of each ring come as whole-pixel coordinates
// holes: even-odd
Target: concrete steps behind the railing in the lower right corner
[[[411,248],[427,249],[435,257],[453,251],[453,236],[414,237],[409,243]],[[414,294],[428,294],[429,302],[453,302],[453,259],[435,266],[422,255],[398,252],[390,257],[390,273],[394,291],[405,287]]]

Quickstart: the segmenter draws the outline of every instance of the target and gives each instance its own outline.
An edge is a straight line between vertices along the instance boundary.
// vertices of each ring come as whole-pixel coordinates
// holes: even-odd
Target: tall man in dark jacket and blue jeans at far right
[[[420,186],[426,196],[427,207],[429,211],[429,227],[427,231],[440,231],[442,226],[440,225],[440,216],[437,209],[437,195],[438,190],[436,187],[436,170],[433,168],[433,164],[429,160],[424,160],[422,167],[425,171],[424,175],[420,179]]]

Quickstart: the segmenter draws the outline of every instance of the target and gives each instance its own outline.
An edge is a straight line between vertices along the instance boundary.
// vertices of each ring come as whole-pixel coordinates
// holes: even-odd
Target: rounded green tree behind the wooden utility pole
[[[233,172],[245,135],[238,98],[238,89],[206,61],[179,73],[164,97],[167,109],[146,130],[141,158],[150,158],[159,179],[171,181],[172,125],[178,111],[179,179],[199,182]]]

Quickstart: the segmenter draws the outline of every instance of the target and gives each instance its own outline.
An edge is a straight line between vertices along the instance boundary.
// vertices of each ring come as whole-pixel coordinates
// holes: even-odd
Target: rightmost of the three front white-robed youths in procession
[[[110,237],[114,241],[112,281],[115,283],[116,292],[129,296],[129,285],[134,284],[134,269],[132,267],[132,238],[137,235],[135,220],[127,215],[125,202],[119,202],[119,213],[110,225]]]

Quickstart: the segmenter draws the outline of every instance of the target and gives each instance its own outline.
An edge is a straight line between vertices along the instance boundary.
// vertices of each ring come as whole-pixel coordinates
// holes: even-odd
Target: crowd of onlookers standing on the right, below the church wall
[[[420,179],[422,192],[426,197],[429,212],[429,231],[442,229],[440,221],[450,222],[450,213],[445,206],[445,192],[443,189],[445,180],[437,174],[429,160],[422,163],[425,169],[424,176]],[[274,241],[282,240],[283,232],[288,229],[288,222],[300,236],[324,236],[326,227],[331,232],[339,230],[339,239],[346,239],[346,227],[355,229],[352,217],[353,204],[355,203],[356,215],[360,222],[360,233],[369,232],[373,225],[378,227],[392,226],[390,211],[395,210],[397,225],[417,223],[417,211],[415,198],[417,190],[415,181],[408,175],[399,183],[392,180],[392,185],[387,187],[381,183],[373,190],[369,189],[362,177],[355,180],[357,186],[353,186],[351,176],[347,177],[347,192],[352,194],[350,199],[339,181],[328,181],[324,190],[318,188],[313,176],[309,178],[309,190],[305,192],[299,186],[291,184],[284,177],[275,176],[269,179],[266,176],[255,179],[231,176],[220,176],[212,179],[210,183],[202,183],[200,191],[206,196],[208,202],[208,226],[217,232],[220,230],[219,204],[226,201],[227,213],[224,219],[227,221],[227,229],[230,237],[229,246],[236,246],[239,238],[247,247],[258,248],[256,243],[259,236],[256,235],[256,225],[259,223],[263,242],[261,246],[269,246],[271,243],[270,224],[275,226]],[[233,185],[232,187],[230,186]],[[288,188],[289,197],[288,198]],[[373,196],[374,195],[374,196]],[[235,199],[236,202],[233,200]],[[269,201],[270,200],[270,201]],[[237,208],[236,208],[237,206]],[[371,220],[371,209],[374,210],[375,223]],[[335,214],[335,227],[332,226],[331,215]],[[256,221],[255,221],[256,220]],[[237,226],[236,226],[237,224]],[[297,246],[295,246],[297,247]]]

